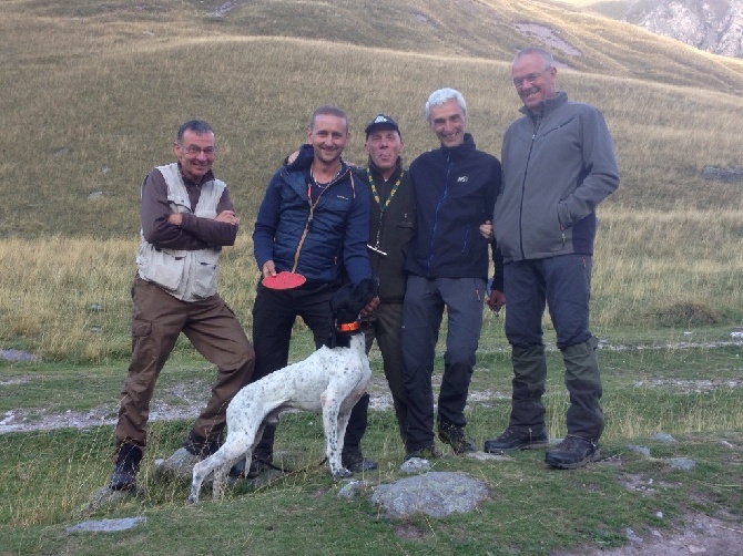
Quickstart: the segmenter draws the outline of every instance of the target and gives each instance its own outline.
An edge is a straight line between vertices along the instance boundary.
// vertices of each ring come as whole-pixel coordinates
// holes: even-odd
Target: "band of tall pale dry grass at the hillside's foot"
[[[593,274],[594,326],[735,323],[743,307],[743,210],[601,213]],[[47,358],[128,353],[136,240],[0,243],[0,339]],[[220,291],[246,329],[258,271],[250,236],[224,251]]]

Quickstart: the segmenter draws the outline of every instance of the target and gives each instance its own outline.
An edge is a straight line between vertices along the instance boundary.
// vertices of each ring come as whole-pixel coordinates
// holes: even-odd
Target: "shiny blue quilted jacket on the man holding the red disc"
[[[303,153],[312,156],[312,145]],[[343,163],[340,174],[308,199],[309,166],[283,166],[266,188],[253,230],[258,268],[273,260],[276,271],[303,275],[309,282],[353,284],[372,276],[366,244],[369,236],[368,187]]]

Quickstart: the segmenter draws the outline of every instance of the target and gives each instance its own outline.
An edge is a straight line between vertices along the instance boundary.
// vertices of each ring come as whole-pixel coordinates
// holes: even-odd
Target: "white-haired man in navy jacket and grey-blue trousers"
[[[498,158],[478,151],[465,132],[467,104],[458,91],[435,91],[426,103],[426,119],[441,146],[418,156],[409,169],[417,230],[405,264],[403,309],[406,461],[437,455],[431,374],[445,308],[448,329],[438,435],[457,454],[475,451],[465,433],[464,410],[482,326],[491,245],[480,236],[479,226],[490,220],[500,187]],[[495,259],[495,245],[492,249]],[[498,298],[502,281],[498,270],[495,276]],[[502,302],[500,294],[498,309]]]

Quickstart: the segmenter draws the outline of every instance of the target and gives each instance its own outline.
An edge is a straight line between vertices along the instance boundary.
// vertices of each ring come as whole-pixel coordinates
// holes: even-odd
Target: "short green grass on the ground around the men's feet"
[[[86,511],[89,496],[111,472],[110,426],[4,434],[0,496],[9,504],[0,509],[0,554],[550,554],[581,545],[621,546],[628,542],[627,528],[645,538],[653,529],[672,535],[684,517],[696,514],[740,529],[743,346],[731,344],[726,336],[706,328],[694,330],[693,337],[676,331],[602,338],[607,431],[601,461],[560,473],[544,469],[541,451],[495,462],[446,452],[434,470],[466,472],[488,485],[489,496],[477,512],[442,519],[389,519],[368,501],[374,485],[404,476],[390,409],[370,414],[364,447],[379,462],[379,471],[364,477],[368,485],[350,501],[337,496],[344,483],[334,484],[325,467],[317,466],[322,428],[313,415],[285,415],[276,442],[284,464],[299,473],[257,490],[238,484],[221,502],[212,502],[205,490],[196,508],[185,505],[186,484],[154,481],[152,467],[154,459],[179,447],[189,420],[154,422],[140,476],[145,492],[93,513]],[[620,338],[627,343],[615,343]],[[299,332],[293,357],[306,352],[309,342]],[[385,394],[379,362],[373,352],[374,399]],[[549,351],[544,401],[552,437],[564,434],[560,367],[558,353]],[[84,414],[108,404],[112,418],[125,362],[82,369],[27,363],[6,365],[2,372],[0,412],[24,406],[41,414]],[[166,365],[156,399],[177,404],[171,398],[175,385],[207,384],[211,375],[184,349]],[[86,388],[75,388],[81,380]],[[466,413],[478,444],[506,425],[509,391],[508,351],[500,322],[492,319],[486,322]],[[654,440],[659,432],[676,442]],[[648,447],[651,457],[630,445]],[[696,465],[673,470],[673,457]],[[123,533],[65,533],[83,519],[126,516],[144,516],[146,524]]]

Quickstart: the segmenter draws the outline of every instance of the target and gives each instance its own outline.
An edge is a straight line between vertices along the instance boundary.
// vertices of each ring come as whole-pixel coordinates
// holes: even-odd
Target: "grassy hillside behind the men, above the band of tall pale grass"
[[[363,125],[384,111],[409,161],[436,145],[426,96],[455,86],[478,145],[498,154],[520,106],[509,63],[530,44],[550,48],[560,85],[609,121],[623,182],[608,206],[742,204],[740,187],[699,177],[740,163],[740,61],[559,2],[254,0],[210,16],[222,3],[0,4],[0,237],[134,237],[143,176],[195,116],[217,131],[215,167],[247,222],[322,103],[352,119],[349,159],[364,162]]]

